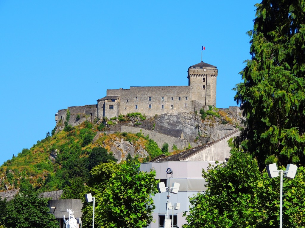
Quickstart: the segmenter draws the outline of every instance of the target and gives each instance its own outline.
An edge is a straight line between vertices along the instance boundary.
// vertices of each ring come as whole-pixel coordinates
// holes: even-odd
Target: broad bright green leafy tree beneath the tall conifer
[[[280,178],[260,174],[249,154],[232,152],[227,164],[209,166],[202,173],[207,190],[190,198],[183,228],[279,226]],[[305,227],[304,175],[300,167],[293,180],[284,180],[283,227]]]

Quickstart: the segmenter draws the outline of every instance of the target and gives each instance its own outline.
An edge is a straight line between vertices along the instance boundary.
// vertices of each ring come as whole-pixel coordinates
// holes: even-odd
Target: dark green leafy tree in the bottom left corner
[[[49,214],[48,200],[37,192],[20,192],[7,203],[5,226],[12,228],[58,227],[55,216]]]

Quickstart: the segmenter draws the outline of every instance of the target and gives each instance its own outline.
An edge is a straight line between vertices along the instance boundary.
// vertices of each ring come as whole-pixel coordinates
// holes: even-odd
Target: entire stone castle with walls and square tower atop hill
[[[188,68],[188,86],[148,86],[129,89],[107,89],[106,96],[96,105],[68,107],[69,124],[85,120],[112,118],[131,112],[146,116],[163,113],[194,112],[205,105],[216,106],[217,67],[200,62]],[[67,109],[55,115],[56,123],[66,120]]]

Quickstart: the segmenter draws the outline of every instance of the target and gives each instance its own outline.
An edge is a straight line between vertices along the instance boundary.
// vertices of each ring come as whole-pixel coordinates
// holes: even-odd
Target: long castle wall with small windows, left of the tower
[[[109,95],[120,96],[119,114],[122,115],[131,112],[141,112],[146,116],[154,116],[166,112],[194,111],[192,104],[192,87],[190,86],[153,86],[130,87],[130,89],[108,89],[107,96]],[[107,106],[105,104],[105,110],[106,109]],[[107,115],[107,117],[109,116]]]

